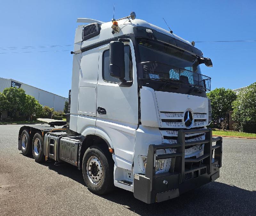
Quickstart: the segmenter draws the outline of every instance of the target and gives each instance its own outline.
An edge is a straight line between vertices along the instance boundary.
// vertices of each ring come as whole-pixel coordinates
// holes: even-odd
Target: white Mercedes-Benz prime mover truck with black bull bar
[[[73,164],[93,193],[116,186],[145,203],[216,180],[222,138],[212,138],[206,127],[211,78],[199,67],[212,61],[194,42],[136,19],[134,12],[106,23],[77,22],[86,25],[76,29],[71,52],[67,122],[22,126],[22,154]]]

